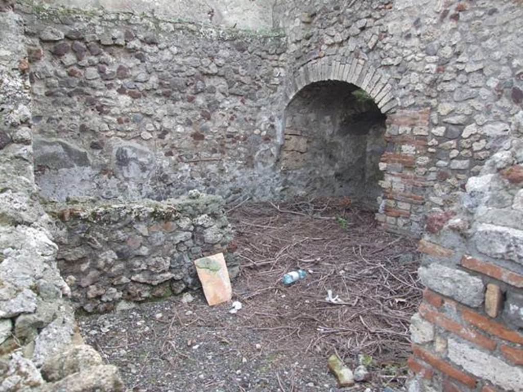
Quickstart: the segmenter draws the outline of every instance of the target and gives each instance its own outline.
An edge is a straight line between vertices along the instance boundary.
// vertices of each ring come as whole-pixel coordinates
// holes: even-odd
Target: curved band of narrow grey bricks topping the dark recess
[[[389,76],[378,71],[367,61],[338,54],[321,57],[303,65],[290,75],[285,87],[286,107],[305,86],[326,80],[347,82],[365,90],[383,114],[394,111],[397,100],[393,95]]]

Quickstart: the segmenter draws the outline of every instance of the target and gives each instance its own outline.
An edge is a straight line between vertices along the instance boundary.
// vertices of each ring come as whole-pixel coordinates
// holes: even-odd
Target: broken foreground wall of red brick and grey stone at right
[[[409,390],[523,390],[523,140],[508,141],[435,211],[419,243],[427,288]]]

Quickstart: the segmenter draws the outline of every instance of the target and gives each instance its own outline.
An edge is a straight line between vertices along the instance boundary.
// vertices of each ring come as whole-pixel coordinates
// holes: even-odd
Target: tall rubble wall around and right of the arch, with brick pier
[[[310,82],[367,89],[388,116],[377,218],[420,235],[523,117],[523,8],[513,0],[281,0],[285,95]]]

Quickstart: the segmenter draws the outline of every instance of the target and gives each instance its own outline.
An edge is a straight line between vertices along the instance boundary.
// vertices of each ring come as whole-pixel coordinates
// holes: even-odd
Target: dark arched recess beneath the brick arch
[[[354,84],[327,80],[301,89],[285,111],[280,167],[286,192],[377,207],[385,118]]]

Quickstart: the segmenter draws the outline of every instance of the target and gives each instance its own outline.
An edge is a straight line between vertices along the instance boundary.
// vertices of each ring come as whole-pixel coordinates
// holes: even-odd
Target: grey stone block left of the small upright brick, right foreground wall
[[[432,263],[418,270],[422,283],[438,293],[472,307],[483,303],[483,281],[467,272]]]

